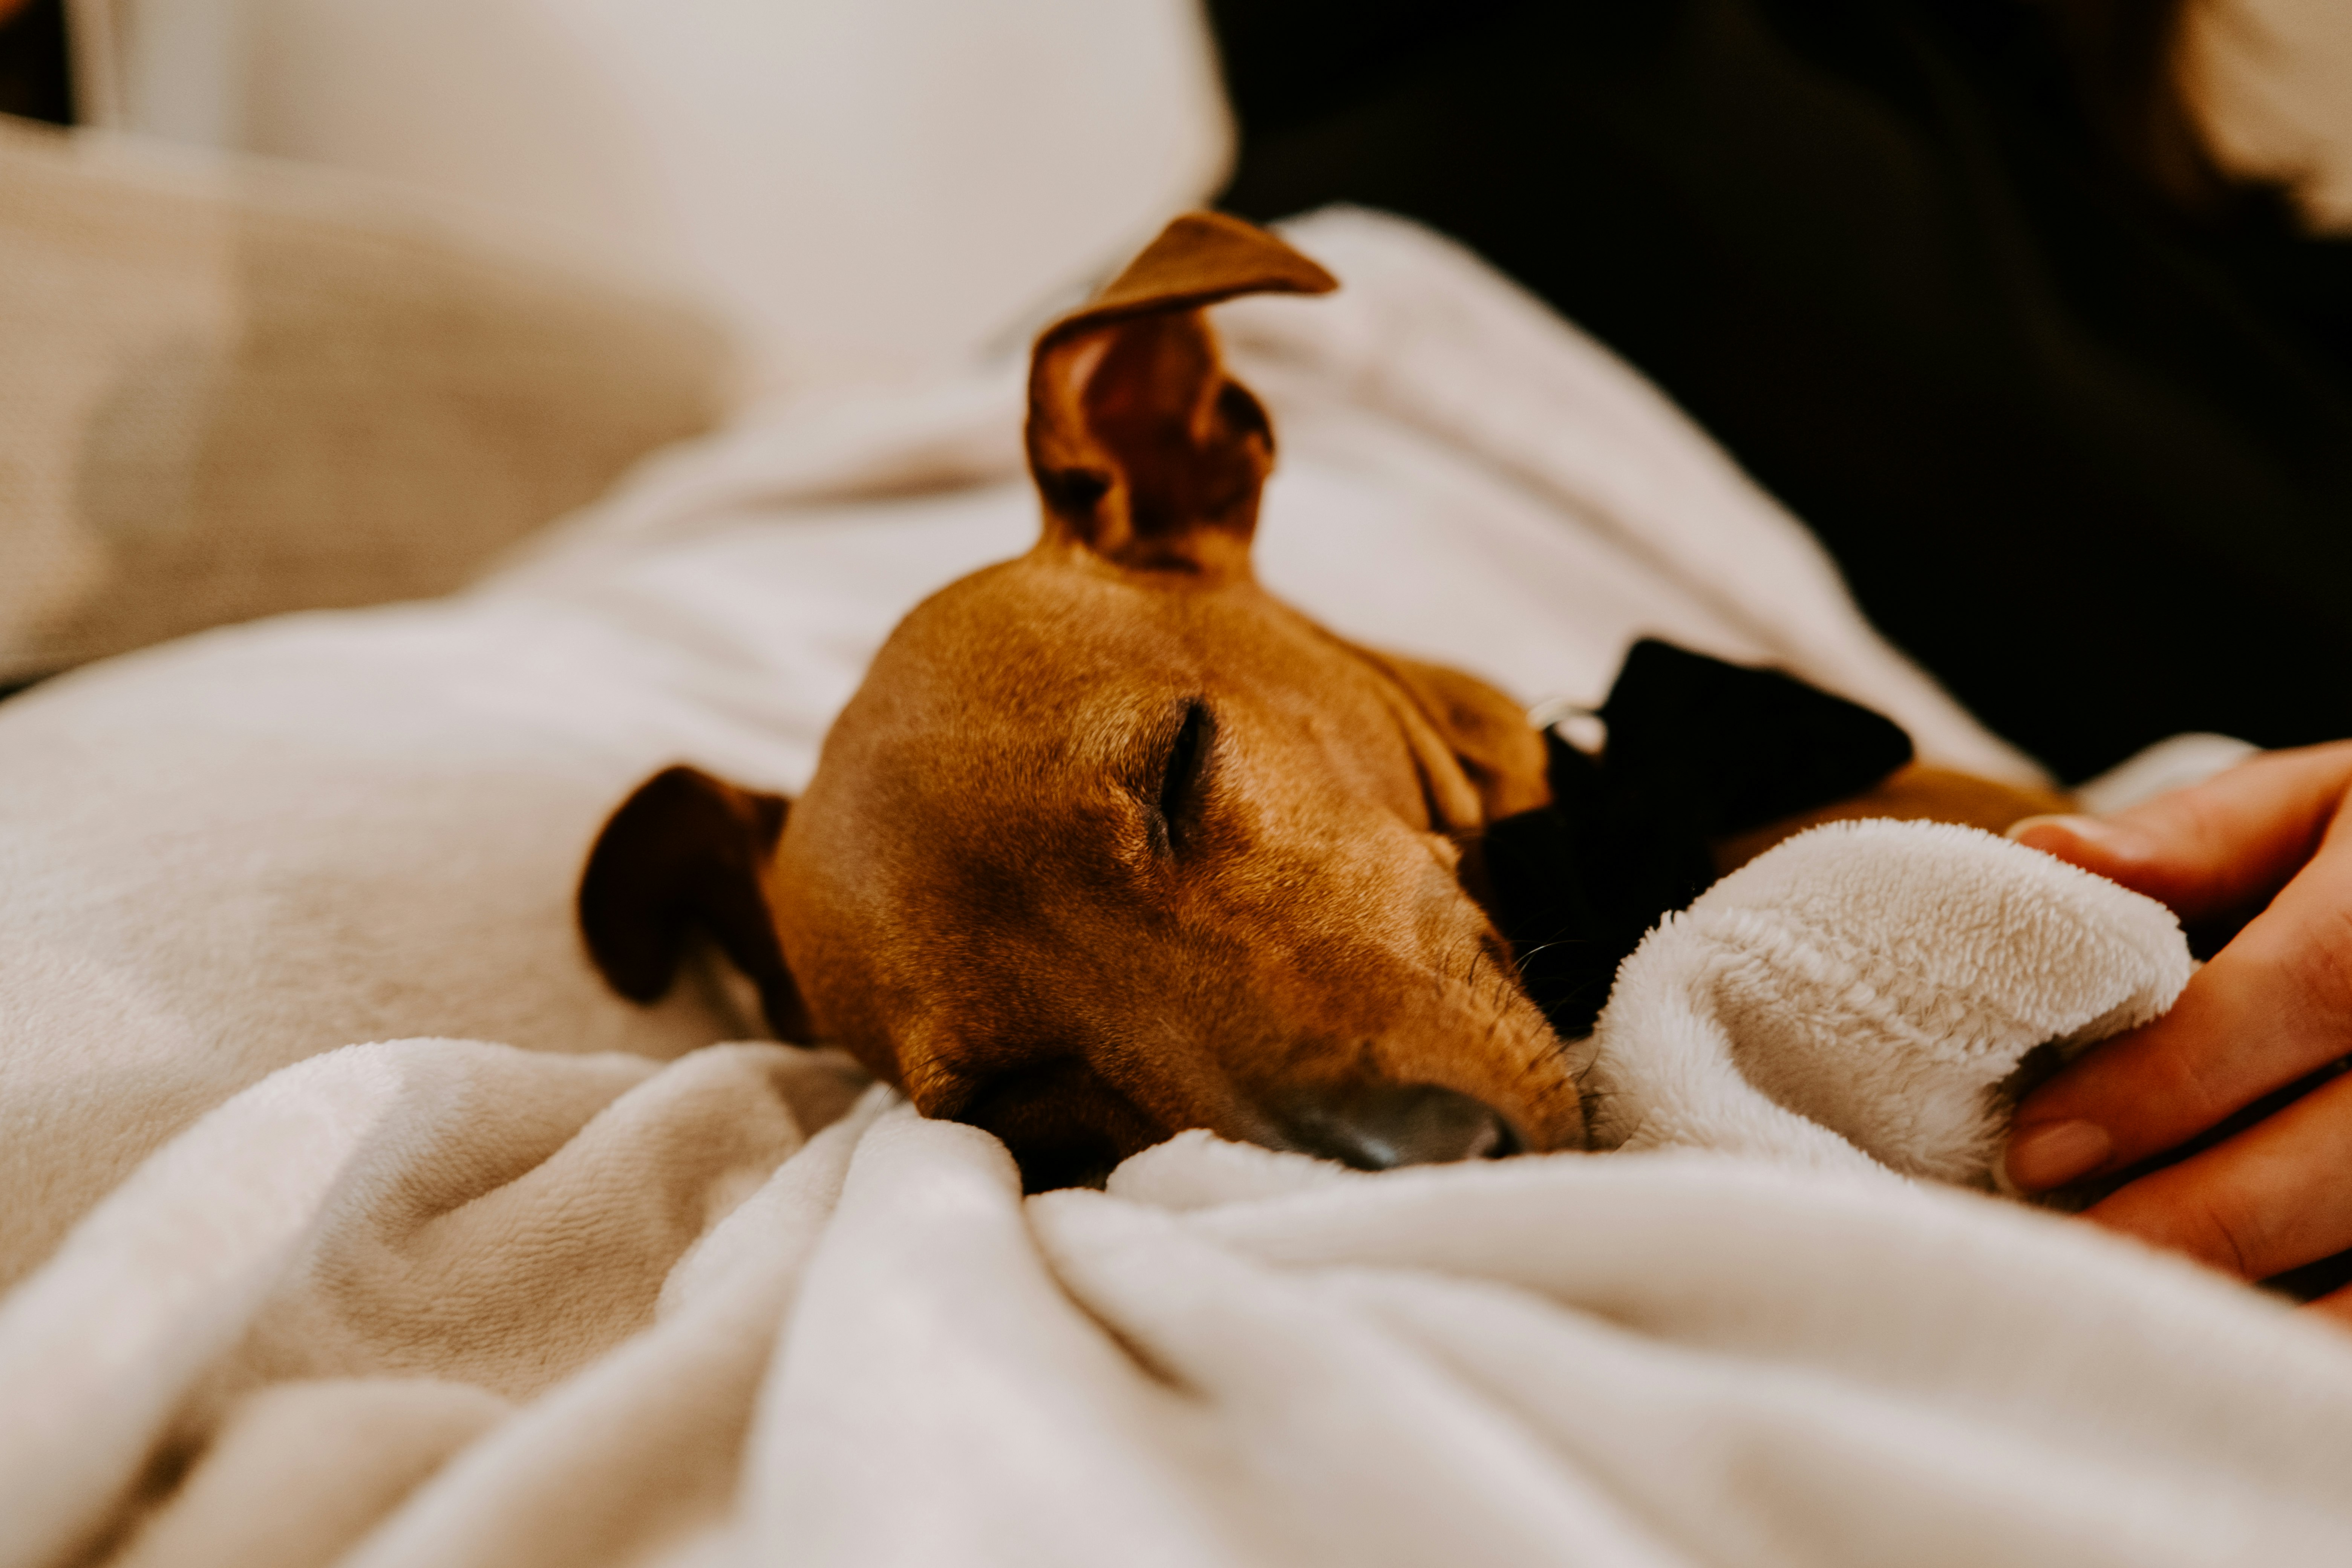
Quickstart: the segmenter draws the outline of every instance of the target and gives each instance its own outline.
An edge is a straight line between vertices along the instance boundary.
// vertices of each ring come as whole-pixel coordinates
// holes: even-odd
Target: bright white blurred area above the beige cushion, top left
[[[101,125],[433,188],[691,280],[771,383],[1016,329],[1223,181],[1195,0],[78,0]]]

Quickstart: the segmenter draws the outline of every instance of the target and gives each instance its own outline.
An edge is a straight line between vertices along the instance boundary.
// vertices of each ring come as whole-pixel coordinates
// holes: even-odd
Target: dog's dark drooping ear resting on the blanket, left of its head
[[[779,1037],[809,1039],[793,971],[767,905],[767,867],[790,802],[670,766],[621,802],[581,872],[588,954],[616,992],[656,1001],[691,929],[708,931],[760,987]]]

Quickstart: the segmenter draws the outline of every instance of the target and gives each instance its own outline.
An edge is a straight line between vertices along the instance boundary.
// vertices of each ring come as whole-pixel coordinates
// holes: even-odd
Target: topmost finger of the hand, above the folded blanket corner
[[[2284,886],[2347,792],[2352,741],[2338,741],[2265,752],[2114,816],[2030,816],[2009,837],[2197,922]]]

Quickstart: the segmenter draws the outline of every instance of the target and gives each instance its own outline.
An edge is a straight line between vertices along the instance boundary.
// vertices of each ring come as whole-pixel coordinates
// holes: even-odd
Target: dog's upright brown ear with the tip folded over
[[[1047,327],[1028,414],[1047,538],[1136,571],[1247,574],[1275,437],[1249,388],[1225,378],[1202,308],[1336,287],[1270,233],[1192,212]]]

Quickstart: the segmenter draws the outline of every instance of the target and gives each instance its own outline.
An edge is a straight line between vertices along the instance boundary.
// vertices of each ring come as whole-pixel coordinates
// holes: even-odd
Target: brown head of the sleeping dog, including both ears
[[[656,997],[706,926],[779,1034],[1002,1135],[1033,1190],[1190,1126],[1357,1166],[1576,1145],[1475,898],[1541,738],[1251,576],[1272,433],[1202,308],[1329,287],[1188,216],[1049,327],[1037,545],[891,632],[797,802],[670,769],[621,806],[581,884],[614,985]]]

